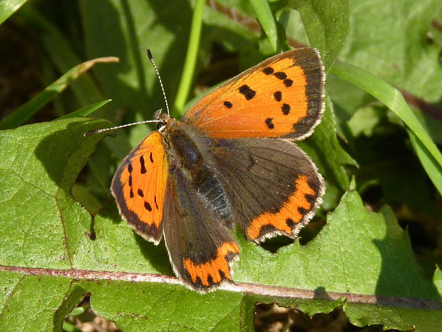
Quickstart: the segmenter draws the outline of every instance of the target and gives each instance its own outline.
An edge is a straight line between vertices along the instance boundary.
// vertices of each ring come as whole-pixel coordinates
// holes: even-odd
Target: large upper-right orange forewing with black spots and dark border
[[[183,121],[215,138],[303,139],[324,111],[324,70],[316,50],[287,51],[198,100]]]

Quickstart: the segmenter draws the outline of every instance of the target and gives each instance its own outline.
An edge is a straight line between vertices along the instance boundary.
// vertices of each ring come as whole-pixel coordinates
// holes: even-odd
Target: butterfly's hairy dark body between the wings
[[[175,119],[170,119],[160,133],[170,163],[169,176],[183,176],[217,216],[230,219],[227,194],[211,167],[212,139]]]

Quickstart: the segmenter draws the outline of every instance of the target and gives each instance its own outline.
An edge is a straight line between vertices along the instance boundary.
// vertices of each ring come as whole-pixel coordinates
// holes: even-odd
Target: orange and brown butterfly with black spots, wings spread
[[[322,118],[324,76],[315,49],[273,56],[202,96],[180,121],[158,114],[158,131],[118,167],[111,191],[120,215],[145,240],[164,238],[188,288],[233,282],[233,227],[255,243],[295,238],[314,215],[324,181],[292,141]]]

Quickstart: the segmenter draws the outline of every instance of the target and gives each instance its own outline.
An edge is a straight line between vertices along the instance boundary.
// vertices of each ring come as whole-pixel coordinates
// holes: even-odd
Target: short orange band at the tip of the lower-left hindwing
[[[197,283],[197,278],[200,278],[202,286],[210,286],[209,278],[212,278],[212,283],[220,283],[222,279],[226,278],[232,280],[230,276],[229,261],[226,256],[230,253],[239,253],[240,249],[237,243],[225,242],[217,248],[217,257],[207,261],[206,263],[195,264],[189,258],[184,260],[184,268],[190,274],[192,283]],[[223,273],[223,276],[221,275]]]

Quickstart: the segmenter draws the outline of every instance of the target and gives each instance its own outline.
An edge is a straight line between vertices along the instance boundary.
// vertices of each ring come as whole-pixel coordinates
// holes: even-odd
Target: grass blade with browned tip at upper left
[[[33,99],[23,106],[20,106],[19,109],[16,109],[16,111],[9,114],[9,116],[6,116],[0,122],[0,129],[11,129],[24,124],[26,120],[36,114],[36,112],[42,109],[43,106],[48,104],[48,102],[57,94],[66,89],[72,81],[78,79],[79,76],[91,69],[95,64],[108,62],[118,62],[118,59],[113,57],[98,58],[83,62],[83,64],[78,64],[73,67],[67,71],[66,74],[63,74],[63,76],[53,82],[53,84],[37,94]]]

